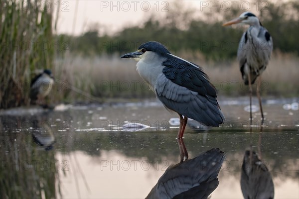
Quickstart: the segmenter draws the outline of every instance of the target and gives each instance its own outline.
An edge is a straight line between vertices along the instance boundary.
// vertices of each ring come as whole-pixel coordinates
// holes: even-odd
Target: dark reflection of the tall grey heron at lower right
[[[241,172],[241,190],[244,199],[274,198],[271,174],[252,149],[245,152]]]

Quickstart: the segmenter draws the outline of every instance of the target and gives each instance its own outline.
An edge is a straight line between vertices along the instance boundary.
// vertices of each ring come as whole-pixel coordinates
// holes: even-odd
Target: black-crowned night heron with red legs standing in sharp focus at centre
[[[216,89],[198,65],[172,55],[155,41],[142,44],[138,51],[121,58],[137,60],[137,71],[156,97],[167,109],[179,114],[178,139],[183,137],[188,117],[206,126],[218,127],[223,123]]]

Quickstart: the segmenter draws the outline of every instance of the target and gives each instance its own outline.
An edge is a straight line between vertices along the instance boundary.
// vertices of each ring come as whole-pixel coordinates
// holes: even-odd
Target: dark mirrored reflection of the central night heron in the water
[[[183,142],[182,148],[186,149]],[[167,168],[147,199],[206,199],[218,187],[218,173],[225,155],[211,149]]]

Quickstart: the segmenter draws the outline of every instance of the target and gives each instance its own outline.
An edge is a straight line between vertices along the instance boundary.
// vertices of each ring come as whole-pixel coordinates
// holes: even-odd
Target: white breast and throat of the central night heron
[[[150,85],[150,89],[155,92],[158,75],[162,73],[164,66],[162,63],[166,58],[160,57],[158,54],[148,51],[141,56],[137,63],[137,71],[140,76]]]

